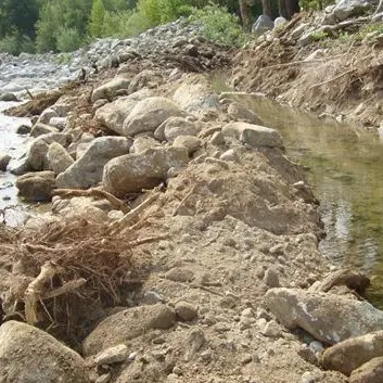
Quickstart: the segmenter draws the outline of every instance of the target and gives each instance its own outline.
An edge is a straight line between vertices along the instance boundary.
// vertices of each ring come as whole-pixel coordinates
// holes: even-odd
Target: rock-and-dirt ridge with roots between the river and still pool
[[[280,135],[202,74],[232,52],[171,36],[33,118],[12,171],[52,212],[1,233],[0,381],[380,382],[369,280],[318,251]]]

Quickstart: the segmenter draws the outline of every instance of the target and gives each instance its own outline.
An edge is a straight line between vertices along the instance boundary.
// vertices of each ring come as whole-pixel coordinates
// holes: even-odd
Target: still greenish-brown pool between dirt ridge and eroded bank
[[[238,100],[279,130],[290,157],[306,168],[327,231],[321,252],[371,276],[370,298],[383,308],[382,138],[263,98]]]

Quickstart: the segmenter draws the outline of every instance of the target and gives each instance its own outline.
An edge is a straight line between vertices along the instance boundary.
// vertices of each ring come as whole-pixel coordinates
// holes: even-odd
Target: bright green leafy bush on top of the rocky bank
[[[210,3],[203,9],[194,9],[190,21],[202,23],[204,37],[210,41],[241,46],[246,40],[238,16],[230,14],[226,7]]]

